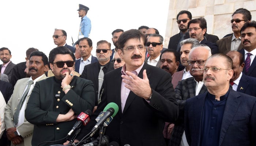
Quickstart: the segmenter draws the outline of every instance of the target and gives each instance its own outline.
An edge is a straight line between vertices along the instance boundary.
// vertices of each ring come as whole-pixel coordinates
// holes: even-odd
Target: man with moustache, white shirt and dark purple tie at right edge
[[[245,23],[240,32],[244,48],[239,52],[244,55],[245,59],[243,73],[247,76],[256,77],[256,22]]]

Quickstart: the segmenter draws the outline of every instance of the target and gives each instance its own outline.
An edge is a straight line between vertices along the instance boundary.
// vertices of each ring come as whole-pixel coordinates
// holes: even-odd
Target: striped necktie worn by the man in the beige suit
[[[19,101],[19,104],[18,104],[18,106],[17,106],[17,108],[16,108],[16,111],[15,111],[15,113],[14,113],[14,115],[13,115],[14,125],[16,125],[16,124],[18,123],[18,121],[19,121],[19,112],[20,112],[20,108],[22,107],[23,102],[24,102],[24,99],[27,97],[27,93],[29,92],[30,86],[31,86],[32,84],[34,84],[34,82],[33,82],[32,80],[30,80],[30,81],[29,81],[29,85],[28,85],[26,91],[24,92],[24,94],[22,95],[22,97],[21,97],[21,99],[20,99],[20,101]]]

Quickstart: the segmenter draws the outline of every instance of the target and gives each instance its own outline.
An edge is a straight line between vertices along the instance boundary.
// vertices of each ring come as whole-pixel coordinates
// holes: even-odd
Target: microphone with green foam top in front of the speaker
[[[95,119],[97,121],[97,123],[95,124],[95,126],[91,130],[92,135],[90,135],[90,136],[92,137],[94,135],[94,133],[98,130],[98,128],[100,126],[102,126],[103,123],[104,123],[104,126],[108,126],[108,124],[111,122],[113,117],[116,116],[116,114],[118,112],[118,109],[119,108],[118,108],[118,105],[116,103],[109,103],[108,105],[106,105],[103,112],[99,113],[99,115]]]

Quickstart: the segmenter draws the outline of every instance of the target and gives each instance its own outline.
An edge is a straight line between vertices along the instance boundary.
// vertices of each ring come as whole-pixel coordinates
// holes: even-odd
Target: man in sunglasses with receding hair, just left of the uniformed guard
[[[67,47],[72,53],[75,53],[75,48],[72,46],[67,45],[67,32],[65,30],[55,29],[54,34],[52,36],[53,42],[57,47],[65,46]]]

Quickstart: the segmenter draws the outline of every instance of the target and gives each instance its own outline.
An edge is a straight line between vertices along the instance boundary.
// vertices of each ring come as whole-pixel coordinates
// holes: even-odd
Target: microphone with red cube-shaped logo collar
[[[68,132],[67,136],[70,136],[76,129],[78,129],[82,124],[86,126],[86,124],[90,121],[91,111],[86,110],[85,112],[81,112],[76,119],[78,121],[74,124],[73,128]]]

